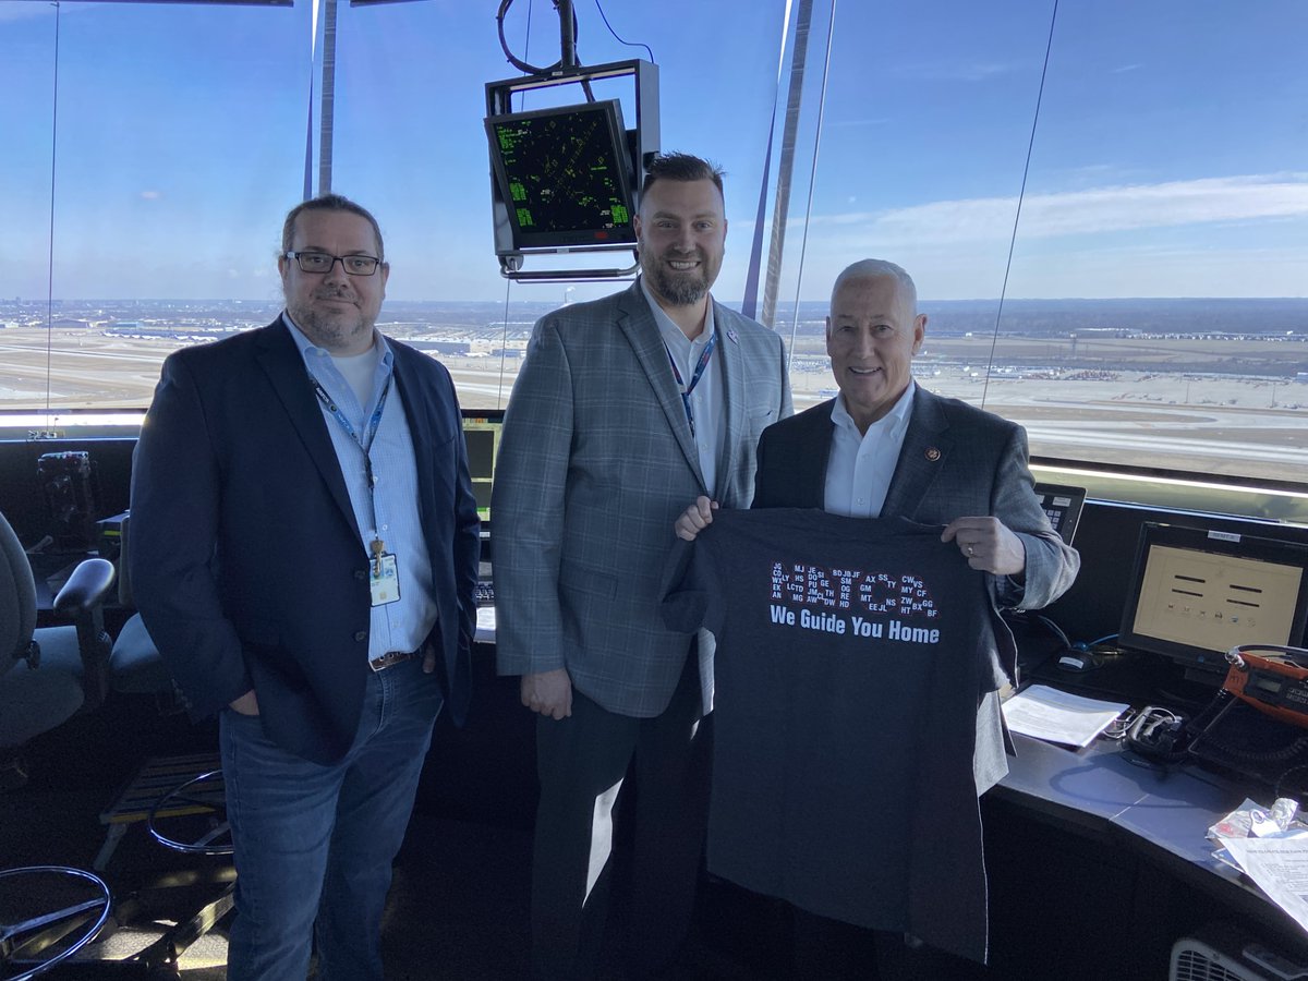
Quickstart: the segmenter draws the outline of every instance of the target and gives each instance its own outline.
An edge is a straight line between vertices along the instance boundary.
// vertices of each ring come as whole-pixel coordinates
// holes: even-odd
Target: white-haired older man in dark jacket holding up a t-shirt
[[[1071,586],[1080,559],[1053,531],[1035,494],[1027,434],[1015,422],[920,387],[912,362],[925,336],[926,315],[917,311],[917,289],[904,269],[865,259],[841,272],[827,318],[827,353],[840,395],[764,430],[751,506],[943,525],[942,540],[954,542],[972,569],[988,573],[997,608],[1046,606]],[[676,534],[693,540],[712,523],[715,506],[697,498],[678,518]],[[1011,637],[998,640],[1006,650],[989,651],[993,684],[978,692],[978,795],[1007,772],[997,689],[1015,651]],[[850,942],[844,925],[816,917],[802,922],[802,977],[875,974],[848,956],[862,938]],[[886,960],[906,956],[914,971],[950,976],[948,963],[935,963],[934,954],[878,947],[883,969]]]

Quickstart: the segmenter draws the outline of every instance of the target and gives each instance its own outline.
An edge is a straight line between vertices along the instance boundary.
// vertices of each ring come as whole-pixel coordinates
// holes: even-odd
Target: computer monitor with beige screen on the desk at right
[[[1220,685],[1240,644],[1300,645],[1308,545],[1213,528],[1141,527],[1118,641]]]

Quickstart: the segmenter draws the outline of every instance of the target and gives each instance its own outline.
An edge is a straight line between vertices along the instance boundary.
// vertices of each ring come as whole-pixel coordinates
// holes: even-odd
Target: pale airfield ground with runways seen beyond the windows
[[[0,412],[135,408],[149,404],[162,360],[191,341],[111,337],[85,331],[0,332]],[[812,344],[804,345],[811,349]],[[522,364],[441,356],[467,408],[502,407]],[[933,391],[1012,419],[1036,455],[1252,477],[1308,481],[1308,382],[1156,371],[1059,371],[1057,365],[984,375],[968,364],[922,358]],[[1080,375],[1080,379],[1052,377]],[[1086,377],[1088,375],[1088,377]],[[831,396],[835,382],[818,351],[797,354],[795,408]],[[984,403],[982,403],[984,399]]]

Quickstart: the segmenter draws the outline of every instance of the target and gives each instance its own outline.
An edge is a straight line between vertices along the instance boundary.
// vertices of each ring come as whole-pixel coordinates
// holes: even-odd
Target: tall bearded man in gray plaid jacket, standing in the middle
[[[496,464],[496,644],[536,726],[532,971],[593,976],[612,808],[634,760],[629,976],[676,957],[708,804],[712,641],[659,616],[672,521],[753,496],[763,429],[790,415],[781,339],[719,303],[722,174],[664,154],[636,218],[641,277],[532,331]],[[628,808],[624,806],[624,815]]]

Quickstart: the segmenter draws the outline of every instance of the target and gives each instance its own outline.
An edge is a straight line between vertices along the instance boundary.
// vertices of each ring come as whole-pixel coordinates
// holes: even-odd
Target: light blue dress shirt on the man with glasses
[[[394,374],[395,356],[386,337],[377,331],[373,332],[373,349],[381,351],[382,356],[377,358],[373,369],[371,396],[368,404],[360,404],[354,388],[336,368],[331,352],[310,341],[294,326],[290,314],[283,314],[283,320],[305,360],[305,368],[335,400],[358,437],[366,441],[369,420],[377,409],[387,381]],[[432,560],[426,551],[417,506],[417,466],[413,456],[413,437],[404,413],[404,399],[399,387],[391,385],[377,436],[370,446],[375,477],[371,496],[368,493],[362,447],[345,432],[322,400],[315,400],[331,434],[349,502],[354,509],[360,556],[370,560],[369,545],[375,534],[385,543],[386,551],[395,556],[399,570],[400,598],[370,610],[368,659],[379,658],[390,651],[417,650],[436,624],[436,598],[432,593]]]

